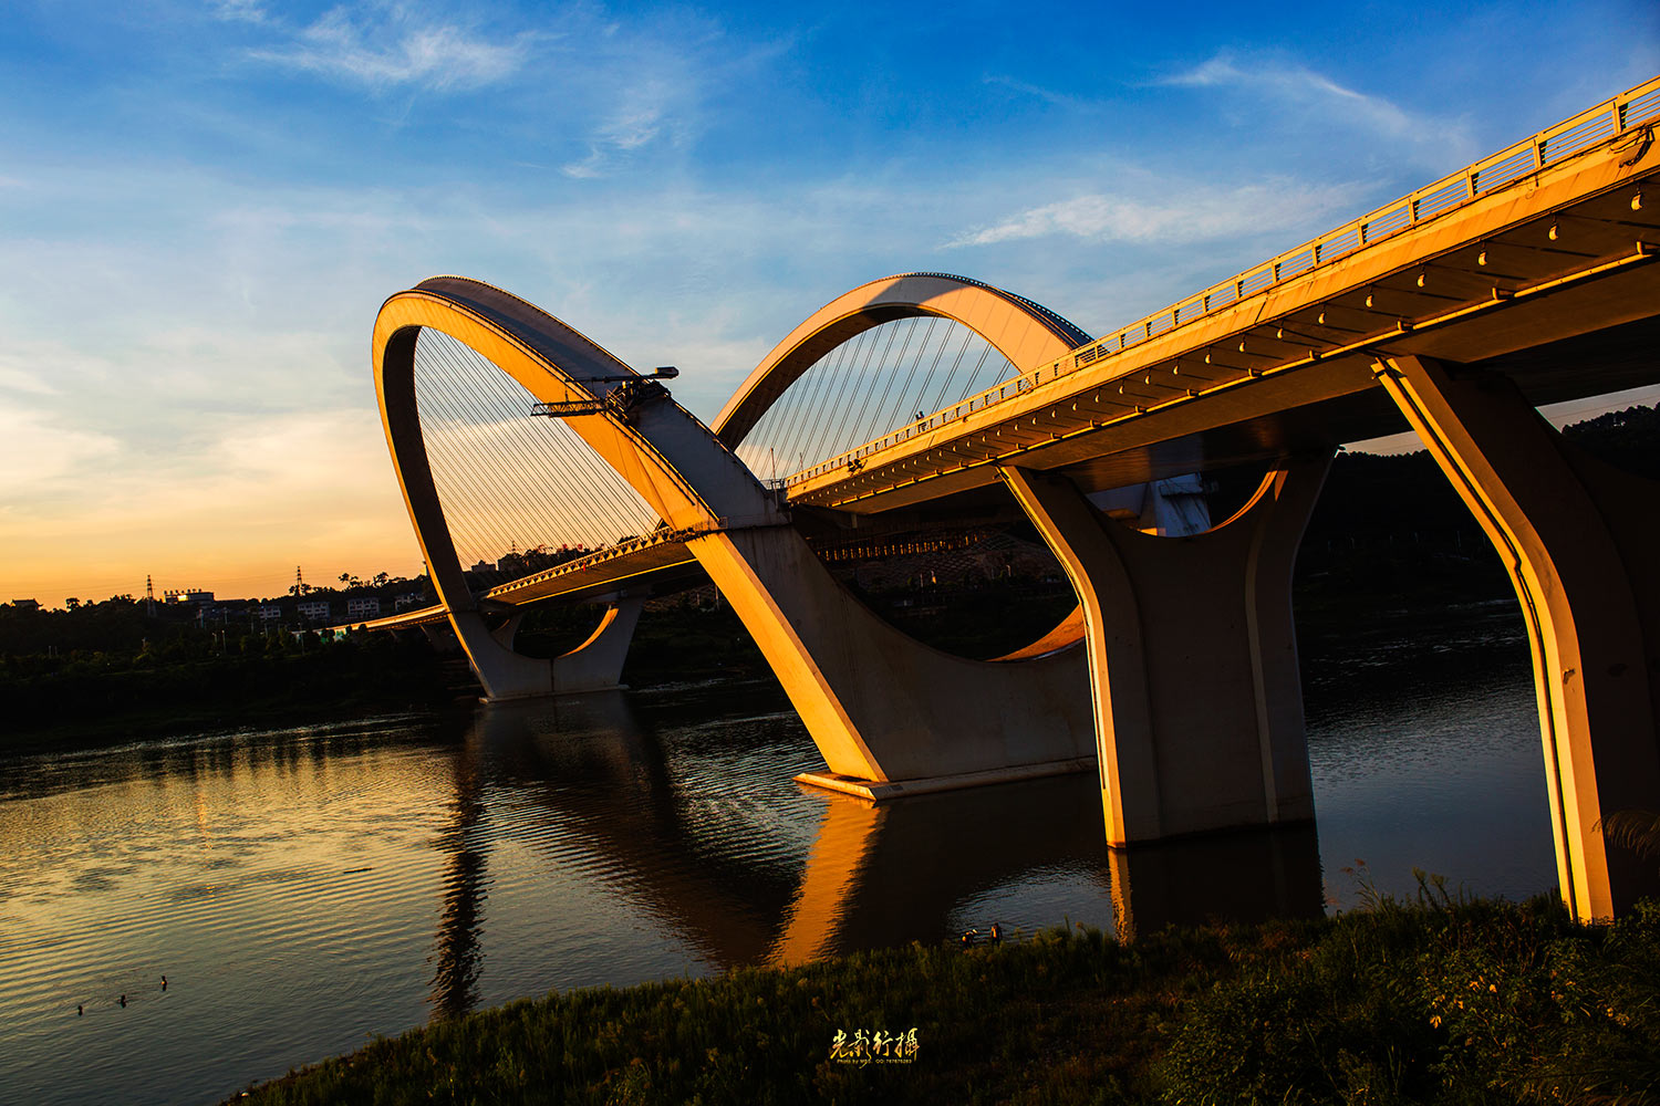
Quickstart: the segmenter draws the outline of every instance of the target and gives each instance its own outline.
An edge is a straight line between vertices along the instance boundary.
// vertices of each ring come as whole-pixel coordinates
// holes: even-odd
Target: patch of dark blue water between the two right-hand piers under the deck
[[[1335,905],[1358,904],[1363,884],[1413,897],[1414,869],[1482,895],[1555,892],[1539,715],[1514,604],[1310,635],[1303,655]]]

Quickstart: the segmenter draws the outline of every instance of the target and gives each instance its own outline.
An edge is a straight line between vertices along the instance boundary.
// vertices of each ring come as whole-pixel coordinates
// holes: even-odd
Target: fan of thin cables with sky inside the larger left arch
[[[647,534],[657,514],[536,396],[450,335],[415,343],[415,406],[461,567],[485,587]]]

